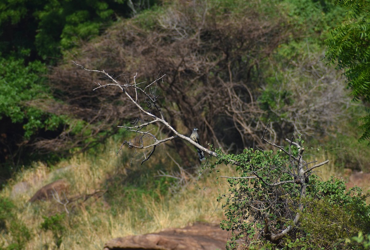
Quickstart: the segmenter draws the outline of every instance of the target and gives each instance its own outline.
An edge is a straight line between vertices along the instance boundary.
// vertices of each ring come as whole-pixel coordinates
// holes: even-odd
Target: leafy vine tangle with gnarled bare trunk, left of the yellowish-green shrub
[[[278,244],[283,237],[292,236],[303,213],[306,188],[312,180],[309,177],[314,169],[329,162],[311,166],[314,161],[303,160],[305,148],[300,134],[296,140],[286,139],[288,147],[268,141],[268,126],[269,122],[260,139],[275,147],[275,153],[246,149],[243,154],[219,157],[215,163],[234,160],[240,170],[238,177],[221,176],[230,183],[229,193],[220,197],[226,198],[223,208],[228,220],[223,227],[232,234],[230,249],[258,244],[259,237]]]

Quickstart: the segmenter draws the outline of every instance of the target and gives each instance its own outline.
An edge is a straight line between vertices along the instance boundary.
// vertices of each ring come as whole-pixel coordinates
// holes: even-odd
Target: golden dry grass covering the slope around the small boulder
[[[117,144],[111,141],[98,156],[79,154],[59,163],[54,171],[42,163],[35,163],[33,168],[24,170],[1,191],[1,197],[11,197],[11,190],[16,183],[24,181],[31,186],[26,193],[11,197],[16,204],[18,218],[31,231],[27,249],[57,249],[53,233],[42,230],[40,225],[44,221],[43,216],[64,212],[63,206],[54,200],[29,204],[27,201],[33,194],[45,184],[61,178],[70,183],[69,197],[104,188],[112,176],[117,173],[124,176],[132,168],[129,165],[130,155],[122,152],[116,156],[116,151]],[[174,164],[164,151],[156,150],[159,153],[156,159],[161,158],[162,164],[164,161],[165,164]],[[153,160],[153,163],[160,163],[155,158]],[[231,168],[223,166],[222,169],[226,171],[223,174],[232,174]],[[189,179],[184,187],[174,189],[172,195],[153,197],[142,194],[141,199],[131,200],[130,206],[116,212],[113,212],[111,204],[104,197],[92,197],[85,202],[68,204],[70,214],[61,221],[66,230],[60,249],[102,249],[106,241],[115,237],[151,233],[168,227],[184,227],[195,221],[218,223],[223,217],[223,211],[218,210],[221,205],[216,198],[219,193],[227,190],[227,185],[217,184],[215,177],[215,174],[211,174],[202,176],[198,181]],[[4,242],[4,246],[7,246],[13,240],[11,233],[2,234],[0,245]]]

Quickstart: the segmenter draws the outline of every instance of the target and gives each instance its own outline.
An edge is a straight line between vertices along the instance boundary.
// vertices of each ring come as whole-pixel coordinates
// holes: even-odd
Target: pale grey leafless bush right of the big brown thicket
[[[346,109],[356,105],[345,88],[344,76],[334,67],[327,66],[323,58],[323,53],[309,53],[280,69],[284,79],[280,91],[288,90],[291,100],[282,107],[270,107],[270,111],[280,118],[273,124],[275,138],[279,138],[276,131],[284,134],[286,126],[300,133],[313,133],[316,139],[334,135],[340,129],[338,122],[347,118]],[[277,102],[284,101],[287,100]]]

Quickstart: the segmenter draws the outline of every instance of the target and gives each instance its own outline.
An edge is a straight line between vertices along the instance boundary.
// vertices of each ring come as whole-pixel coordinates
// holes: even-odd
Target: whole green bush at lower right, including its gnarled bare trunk
[[[212,167],[233,163],[239,175],[227,177],[223,201],[228,249],[347,249],[345,239],[370,230],[370,207],[359,188],[342,180],[321,181],[306,162],[303,140],[273,150],[218,153]],[[360,246],[353,249],[361,249]]]

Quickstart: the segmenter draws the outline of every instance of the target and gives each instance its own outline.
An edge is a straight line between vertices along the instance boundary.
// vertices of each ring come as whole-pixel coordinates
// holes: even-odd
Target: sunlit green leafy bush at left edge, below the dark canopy
[[[40,109],[40,104],[51,98],[44,77],[46,65],[40,61],[27,65],[24,60],[11,57],[0,58],[0,68],[3,69],[0,72],[0,120],[9,117],[11,123],[22,123],[22,136],[26,140],[40,129],[56,130],[63,117]],[[35,100],[39,103],[32,104]]]

